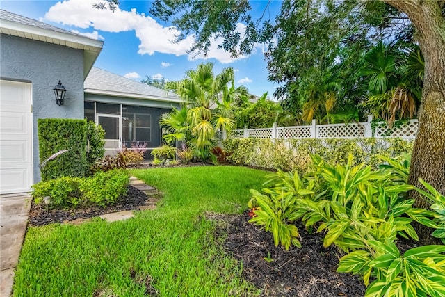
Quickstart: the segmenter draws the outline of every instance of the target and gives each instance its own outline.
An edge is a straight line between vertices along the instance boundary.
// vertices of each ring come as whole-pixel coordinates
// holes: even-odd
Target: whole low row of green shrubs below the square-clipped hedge
[[[105,207],[113,204],[127,193],[129,175],[124,170],[97,172],[92,177],[59,177],[33,186],[36,204],[42,204],[46,196],[51,198],[51,207],[80,207],[95,204]]]

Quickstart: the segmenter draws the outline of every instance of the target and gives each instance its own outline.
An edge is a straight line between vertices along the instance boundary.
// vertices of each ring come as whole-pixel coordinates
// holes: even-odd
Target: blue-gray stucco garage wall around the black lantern
[[[34,182],[39,182],[37,120],[83,118],[83,50],[10,35],[0,38],[1,79],[32,83]],[[62,106],[52,90],[59,79],[67,89]]]

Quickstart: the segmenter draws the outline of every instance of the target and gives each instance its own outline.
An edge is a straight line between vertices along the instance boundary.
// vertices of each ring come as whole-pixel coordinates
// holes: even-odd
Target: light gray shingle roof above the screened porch
[[[154,86],[149,86],[145,83],[139,83],[138,81],[133,81],[127,79],[126,77],[121,77],[118,74],[114,74],[97,67],[92,67],[88,77],[86,77],[84,82],[84,87],[86,93],[91,90],[104,91],[117,93],[116,95],[138,95],[138,97],[155,97],[157,99],[165,99],[165,101],[177,102],[180,98],[167,94],[165,90],[160,88],[155,88]],[[97,92],[95,92],[97,93]]]

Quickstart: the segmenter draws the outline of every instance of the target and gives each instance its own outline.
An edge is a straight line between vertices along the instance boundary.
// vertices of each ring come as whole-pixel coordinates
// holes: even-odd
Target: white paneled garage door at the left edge
[[[0,80],[0,194],[33,184],[31,83]]]

